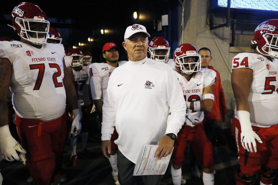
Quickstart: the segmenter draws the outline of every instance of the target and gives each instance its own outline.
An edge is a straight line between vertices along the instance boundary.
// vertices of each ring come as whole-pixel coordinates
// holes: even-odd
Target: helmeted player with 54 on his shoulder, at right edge
[[[278,173],[278,20],[259,24],[253,53],[239,53],[232,61],[236,101],[232,131],[240,169],[237,184],[272,184]]]

